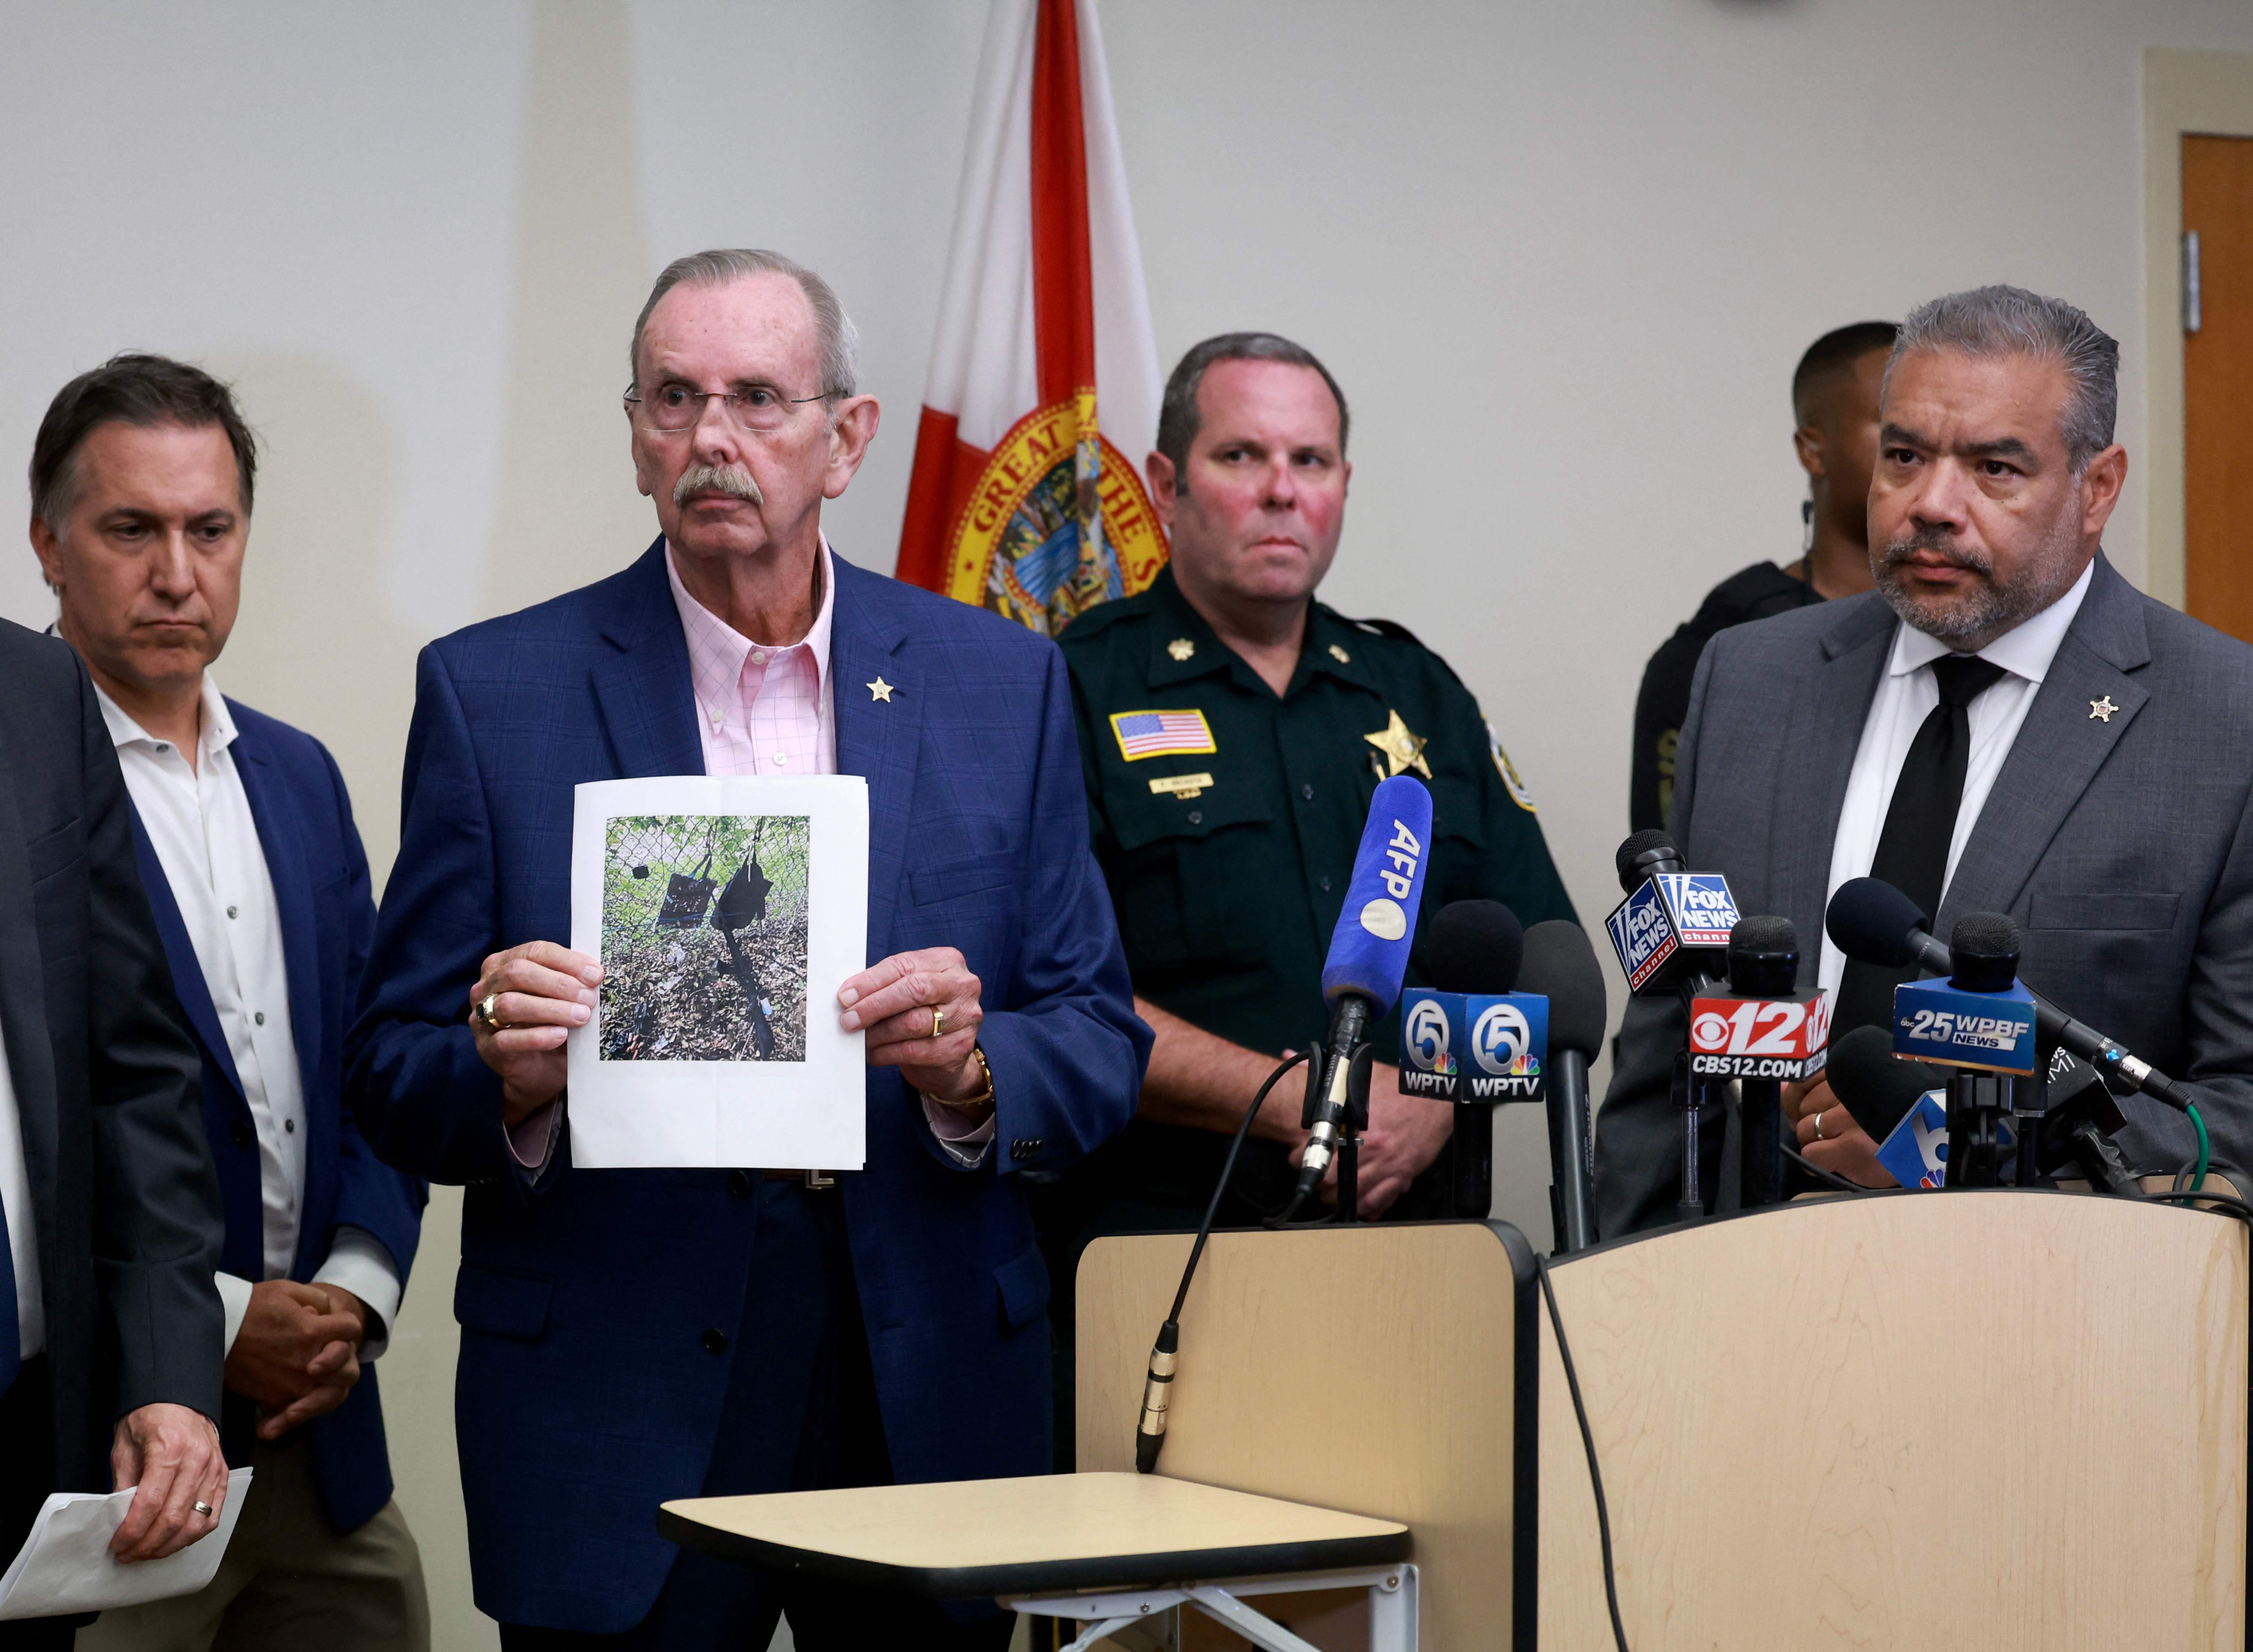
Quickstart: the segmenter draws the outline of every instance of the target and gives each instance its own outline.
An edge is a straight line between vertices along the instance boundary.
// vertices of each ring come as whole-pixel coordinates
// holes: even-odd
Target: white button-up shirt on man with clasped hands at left
[[[234,719],[228,703],[203,676],[203,732],[196,766],[169,739],[135,723],[101,687],[101,719],[117,746],[117,766],[140,814],[142,829],[164,868],[164,881],[180,908],[203,985],[219,1012],[219,1028],[243,1082],[250,1122],[259,1140],[259,1194],[264,1201],[264,1278],[286,1280],[297,1260],[297,1224],[304,1208],[304,1080],[291,1032],[288,960],[282,951],[282,911],[275,902],[266,850],[250,816],[250,796],[234,766]],[[338,1285],[367,1305],[367,1343],[360,1359],[374,1359],[390,1339],[399,1314],[401,1280],[392,1253],[349,1224],[338,1226],[329,1255],[313,1273],[315,1285]],[[219,1298],[228,1309],[228,1348],[250,1307],[250,1280],[219,1276]]]

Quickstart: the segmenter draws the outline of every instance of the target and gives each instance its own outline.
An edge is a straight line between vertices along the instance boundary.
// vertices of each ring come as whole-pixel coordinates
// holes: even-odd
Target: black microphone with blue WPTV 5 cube
[[[1480,1091],[1491,1086],[1482,1086],[1476,1080],[1467,1093],[1462,1066],[1453,1059],[1449,1046],[1455,1043],[1455,1028],[1462,1028],[1464,1048],[1473,1059],[1478,1057],[1478,1028],[1487,1025],[1482,1014],[1489,1005],[1471,1005],[1469,998],[1507,994],[1519,978],[1523,953],[1525,929],[1507,906],[1500,902],[1449,902],[1431,920],[1431,935],[1426,938],[1426,958],[1431,960],[1431,985],[1435,992],[1413,996],[1404,1003],[1401,1053],[1406,1059],[1401,1062],[1401,1091],[1446,1095],[1446,1100],[1458,1102],[1451,1145],[1451,1197],[1458,1217],[1485,1219],[1487,1210],[1494,1208],[1494,1109],[1462,1107],[1462,1102],[1510,1098],[1498,1093],[1482,1095]],[[1417,1032],[1408,1032],[1410,1021],[1417,1023]],[[1523,1032],[1512,1039],[1519,1046],[1516,1055],[1521,1059],[1503,1066],[1530,1066],[1532,1073],[1525,1082],[1539,1089],[1546,1050],[1532,1048],[1530,1023],[1532,1016],[1525,1016],[1521,1010],[1516,1028],[1523,1028]],[[1433,1034],[1437,1034],[1442,1048],[1431,1053],[1433,1059],[1428,1064],[1419,1064],[1417,1057],[1431,1050]],[[1510,1034],[1505,1032],[1505,1037]],[[1453,1071],[1431,1071],[1442,1062]]]

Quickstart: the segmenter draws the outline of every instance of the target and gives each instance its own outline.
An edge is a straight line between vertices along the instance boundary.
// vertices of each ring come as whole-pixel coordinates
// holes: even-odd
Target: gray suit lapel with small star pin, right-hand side
[[[2050,663],[2003,773],[1965,843],[1933,931],[1962,913],[2007,913],[2048,854],[2073,805],[2152,699],[2129,672],[2152,660],[2134,588],[2098,557],[2098,570]],[[2109,717],[2093,717],[2111,699]]]

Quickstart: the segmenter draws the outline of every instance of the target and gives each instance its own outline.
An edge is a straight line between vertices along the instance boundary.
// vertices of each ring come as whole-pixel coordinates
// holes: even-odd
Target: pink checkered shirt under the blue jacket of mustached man
[[[829,541],[818,563],[822,606],[802,642],[786,649],[753,642],[696,602],[665,548],[665,579],[689,645],[689,692],[707,775],[834,775],[838,730],[829,685],[829,615],[836,572]]]

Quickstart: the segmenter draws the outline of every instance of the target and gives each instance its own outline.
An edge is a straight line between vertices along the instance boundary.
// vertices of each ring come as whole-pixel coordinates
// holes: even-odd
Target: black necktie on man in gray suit
[[[1870,877],[1893,883],[1926,913],[1940,913],[1940,890],[1949,877],[1949,843],[1956,838],[1956,809],[1965,800],[1965,766],[1971,762],[1971,701],[2003,676],[2003,667],[1976,654],[1949,654],[1933,660],[1940,681],[1940,703],[1933,705],[1902,760],[1902,778],[1893,782],[1886,807],[1886,829],[1877,838]],[[1847,960],[1838,980],[1838,1007],[1832,1016],[1832,1039],[1863,1025],[1893,1021],[1893,989],[1911,980],[1915,969],[1886,969]]]

